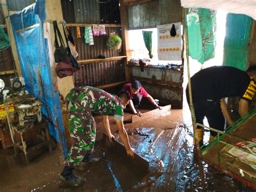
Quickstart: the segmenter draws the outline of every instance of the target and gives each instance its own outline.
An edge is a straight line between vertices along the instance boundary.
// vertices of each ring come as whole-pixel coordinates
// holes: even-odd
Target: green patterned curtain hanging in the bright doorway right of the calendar
[[[186,11],[188,55],[204,64],[215,53],[216,11],[203,8]]]

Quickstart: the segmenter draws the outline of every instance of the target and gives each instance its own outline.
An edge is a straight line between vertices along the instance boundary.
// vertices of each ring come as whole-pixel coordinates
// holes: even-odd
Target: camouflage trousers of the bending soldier
[[[78,166],[87,152],[93,151],[96,138],[96,122],[93,119],[90,105],[77,101],[74,93],[66,98],[69,113],[69,131],[73,143],[66,158],[65,166]]]

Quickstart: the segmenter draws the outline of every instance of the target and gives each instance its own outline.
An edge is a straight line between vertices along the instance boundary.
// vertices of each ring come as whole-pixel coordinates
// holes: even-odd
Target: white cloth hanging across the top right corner
[[[181,0],[184,8],[207,8],[245,14],[256,19],[256,0]]]

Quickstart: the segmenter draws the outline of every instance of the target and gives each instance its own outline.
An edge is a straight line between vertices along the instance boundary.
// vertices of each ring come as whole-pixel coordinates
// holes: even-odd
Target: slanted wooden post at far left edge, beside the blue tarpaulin
[[[11,27],[11,22],[10,22],[9,12],[7,9],[6,0],[1,0],[1,4],[2,4],[3,16],[5,18],[6,30],[7,30],[8,36],[10,38],[10,42],[11,42],[11,51],[12,51],[11,54],[14,57],[14,63],[15,63],[15,67],[17,70],[18,77],[22,77],[21,65],[20,65],[19,59],[18,59],[18,53],[17,53],[17,48],[16,48],[16,44],[15,44],[15,39],[14,39],[14,32],[12,31],[12,27]]]

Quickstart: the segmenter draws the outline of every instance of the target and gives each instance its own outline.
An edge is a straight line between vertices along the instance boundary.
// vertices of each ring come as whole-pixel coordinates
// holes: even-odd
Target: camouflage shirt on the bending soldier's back
[[[114,115],[115,120],[124,120],[124,107],[118,96],[90,86],[75,87],[70,93],[67,97],[72,98],[69,100],[78,102],[84,108],[89,106],[92,113]]]

